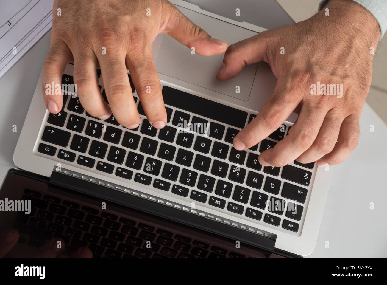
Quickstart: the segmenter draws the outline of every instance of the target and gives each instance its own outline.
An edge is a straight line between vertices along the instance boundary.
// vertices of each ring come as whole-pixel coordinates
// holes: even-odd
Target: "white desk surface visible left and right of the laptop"
[[[12,156],[49,45],[50,31],[0,78],[0,181],[15,167]],[[365,105],[358,146],[334,168],[317,244],[308,257],[387,257],[386,142],[387,127]]]

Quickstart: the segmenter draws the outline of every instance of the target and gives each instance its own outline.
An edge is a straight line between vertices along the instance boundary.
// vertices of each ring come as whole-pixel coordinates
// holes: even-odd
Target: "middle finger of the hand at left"
[[[125,55],[108,51],[105,55],[97,55],[97,58],[106,97],[115,119],[128,129],[137,128],[141,119],[130,88]]]

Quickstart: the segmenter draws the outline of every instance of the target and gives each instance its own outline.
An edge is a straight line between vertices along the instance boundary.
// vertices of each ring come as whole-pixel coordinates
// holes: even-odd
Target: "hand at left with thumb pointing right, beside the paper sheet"
[[[61,16],[57,15],[58,9]],[[55,0],[51,46],[43,67],[47,109],[57,113],[62,108],[62,96],[46,95],[45,86],[52,82],[61,84],[62,73],[70,62],[74,63],[74,84],[80,103],[90,115],[108,119],[113,112],[122,126],[137,128],[141,119],[128,69],[149,123],[154,128],[163,128],[167,115],[152,58],[152,42],[159,33],[168,34],[189,48],[195,47],[199,55],[221,54],[227,49],[224,41],[212,39],[166,0]],[[106,54],[102,48],[106,48]],[[110,107],[98,88],[98,67]]]

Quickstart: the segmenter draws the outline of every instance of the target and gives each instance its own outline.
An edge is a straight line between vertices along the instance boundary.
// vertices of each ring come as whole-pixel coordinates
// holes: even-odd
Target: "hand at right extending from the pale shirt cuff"
[[[235,136],[235,149],[257,144],[294,111],[298,118],[289,134],[259,155],[260,164],[284,166],[296,159],[324,166],[344,161],[358,143],[360,114],[372,79],[370,50],[376,50],[379,38],[378,22],[368,10],[352,0],[331,0],[306,21],[230,45],[217,79],[233,78],[246,64],[261,60],[278,78],[262,110]],[[341,94],[336,90],[333,95],[312,95],[318,81],[339,84]]]

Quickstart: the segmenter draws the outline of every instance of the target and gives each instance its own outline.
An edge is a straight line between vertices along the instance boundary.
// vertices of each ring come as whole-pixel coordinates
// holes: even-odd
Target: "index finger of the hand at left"
[[[167,113],[152,52],[144,50],[140,58],[128,54],[126,62],[149,123],[156,129],[164,128]]]

